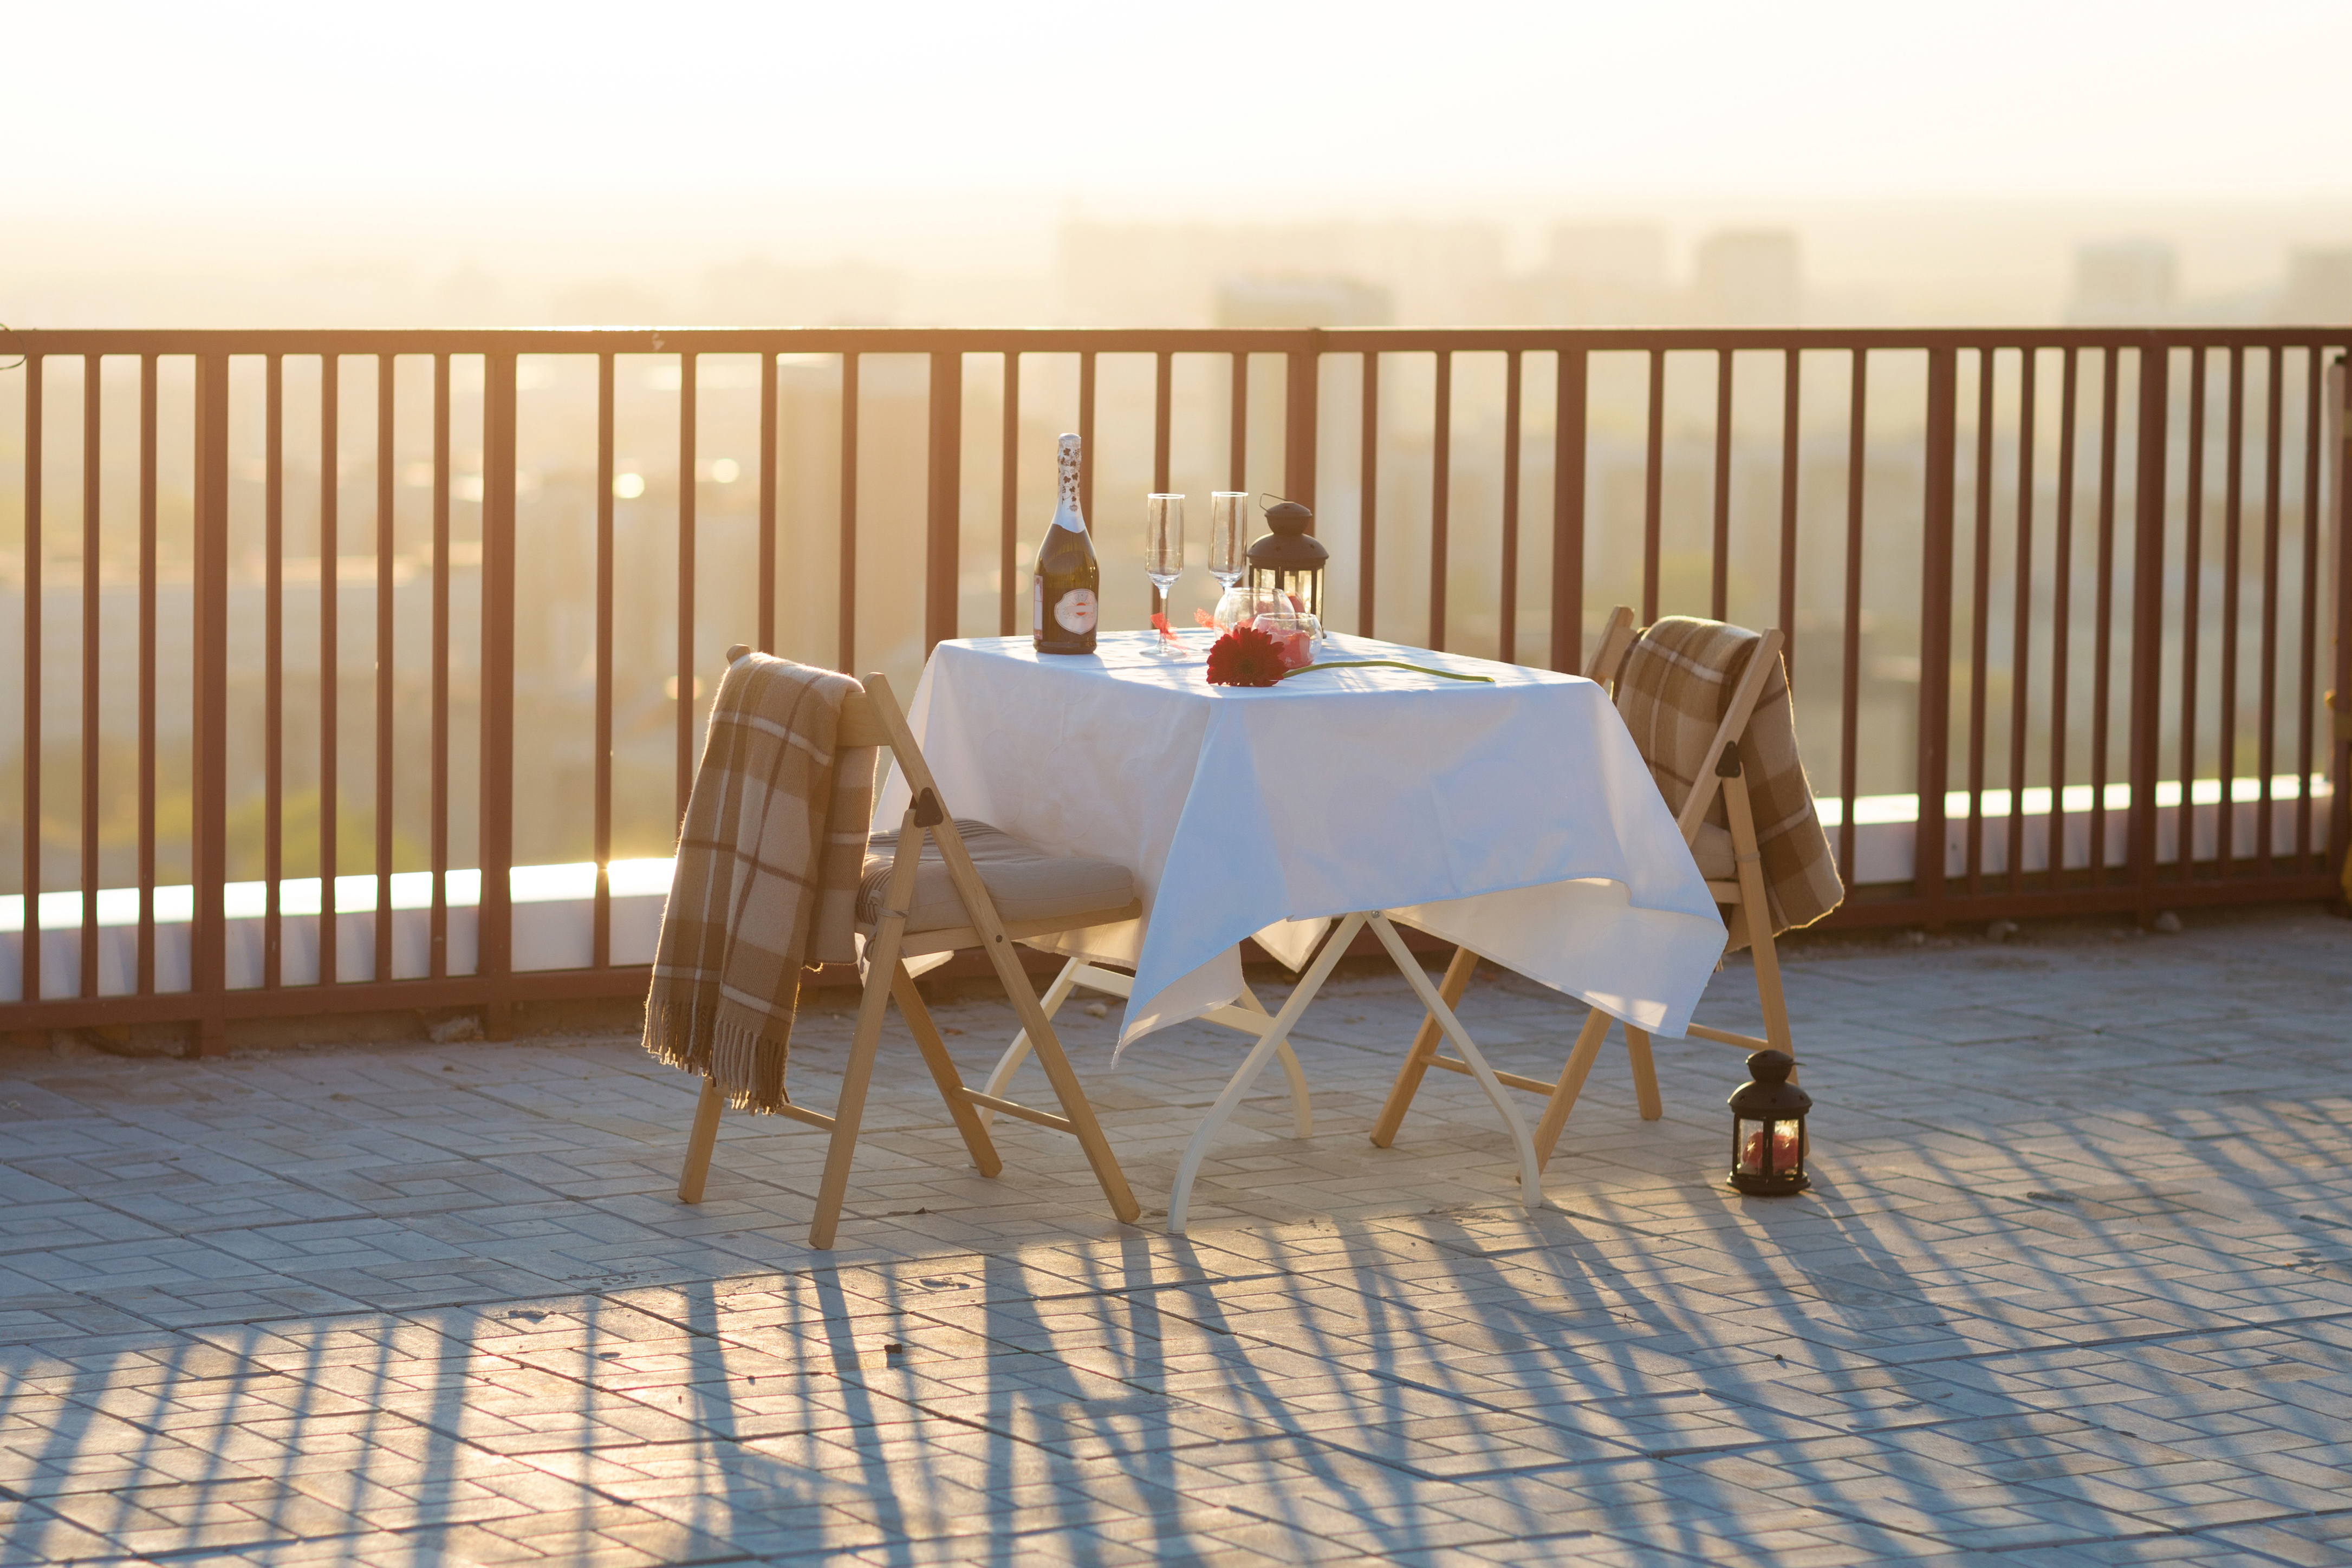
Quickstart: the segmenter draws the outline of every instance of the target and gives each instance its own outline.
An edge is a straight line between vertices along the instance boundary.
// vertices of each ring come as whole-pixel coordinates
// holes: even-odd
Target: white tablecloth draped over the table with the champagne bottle
[[[1094,656],[943,642],[910,722],[948,811],[1136,872],[1143,919],[1035,945],[1136,971],[1124,1051],[1242,994],[1235,945],[1301,964],[1322,917],[1388,910],[1656,1034],[1682,1034],[1724,924],[1609,696],[1581,675],[1334,637],[1329,670],[1211,686],[1209,632]],[[896,827],[896,769],[875,825]],[[1312,924],[1282,924],[1312,922]]]

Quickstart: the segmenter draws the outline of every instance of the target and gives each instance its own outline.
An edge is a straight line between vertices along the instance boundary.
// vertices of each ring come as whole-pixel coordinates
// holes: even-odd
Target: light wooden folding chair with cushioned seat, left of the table
[[[727,658],[734,661],[746,651],[748,649],[729,649]],[[948,816],[948,806],[938,797],[938,783],[931,778],[931,769],[924,764],[922,750],[915,745],[915,733],[908,729],[906,715],[891,696],[889,682],[880,675],[868,675],[866,691],[861,696],[851,696],[842,705],[837,745],[842,750],[866,745],[889,748],[889,752],[898,759],[898,773],[906,778],[910,802],[898,823],[896,842],[891,844],[887,835],[877,835],[875,846],[868,849],[868,889],[873,886],[873,872],[884,853],[889,856],[889,879],[884,882],[882,898],[875,907],[868,910],[866,898],[861,898],[858,929],[866,936],[866,992],[858,1001],[856,1032],[849,1039],[849,1065],[842,1072],[840,1100],[835,1103],[830,1117],[802,1105],[781,1107],[781,1114],[833,1133],[833,1143],[826,1150],[826,1175],[816,1190],[816,1215],[809,1220],[809,1246],[833,1246],[833,1234],[842,1218],[842,1197],[849,1190],[849,1159],[858,1143],[858,1119],[866,1112],[866,1086],[873,1079],[875,1048],[882,1041],[882,1013],[894,997],[898,1001],[898,1011],[906,1016],[908,1030],[915,1034],[915,1046],[922,1051],[924,1065],[931,1070],[931,1081],[938,1084],[938,1095],[948,1103],[948,1114],[955,1117],[955,1128],[964,1135],[964,1147],[971,1150],[971,1164],[981,1168],[981,1175],[995,1175],[1004,1168],[988,1138],[988,1126],[978,1117],[978,1110],[985,1107],[1075,1135],[1077,1145],[1087,1152],[1087,1164],[1094,1166],[1094,1180],[1103,1185],[1103,1197],[1110,1199],[1110,1211],[1120,1215],[1122,1222],[1134,1222],[1143,1211],[1127,1190],[1127,1175],[1120,1171],[1120,1161],[1112,1159],[1110,1145],[1103,1140],[1103,1128],[1094,1119],[1094,1107],[1087,1105],[1087,1093],[1080,1088],[1077,1074],[1070,1070],[1070,1058],[1063,1056],[1054,1025],[1037,1006],[1037,992],[1030,990],[1030,978],[1021,969],[1021,957],[1014,952],[1014,943],[1028,936],[1051,936],[1054,931],[1134,919],[1143,912],[1143,900],[1138,900],[1134,889],[1129,889],[1127,900],[1117,907],[1070,912],[1051,910],[1056,903],[1056,872],[1089,867],[1096,872],[1091,882],[1098,886],[1103,882],[1098,875],[1101,867],[1096,863],[1054,860],[1051,856],[1028,851],[1002,832],[988,830],[990,844],[995,846],[990,870],[995,870],[1000,879],[1004,879],[1007,872],[1021,877],[1025,882],[1025,903],[1030,907],[1049,910],[1047,914],[1030,919],[1007,922],[997,912],[997,900],[990,896],[988,879],[974,863],[971,851],[964,844],[964,835],[957,830],[955,818]],[[964,827],[981,825],[964,823]],[[931,842],[936,853],[927,856],[924,842]],[[941,889],[936,889],[936,882],[941,867],[953,886],[953,900],[938,896]],[[929,870],[931,877],[922,877],[924,870]],[[1070,882],[1068,875],[1061,879]],[[929,896],[920,896],[920,882],[931,884]],[[1087,889],[1073,889],[1061,896],[1061,903],[1070,903],[1073,898],[1084,900],[1084,896]],[[941,910],[946,910],[946,914]],[[917,929],[910,929],[910,917]],[[957,1077],[955,1060],[948,1056],[948,1046],[938,1037],[938,1027],[931,1023],[929,1009],[922,1004],[922,992],[915,990],[915,978],[908,973],[906,959],[931,952],[957,952],[964,947],[983,950],[990,966],[997,971],[997,980],[1004,983],[1004,992],[1014,1001],[1014,1013],[1021,1018],[1030,1048],[1037,1051],[1037,1063],[1054,1084],[1054,1093],[1061,1100],[1061,1114],[1016,1105],[1011,1100],[981,1093],[978,1088],[967,1088],[962,1077]],[[687,1166],[677,1178],[677,1197],[684,1204],[699,1204],[703,1199],[703,1180],[710,1175],[710,1147],[717,1140],[720,1110],[724,1103],[727,1098],[720,1093],[717,1084],[706,1079],[703,1098],[694,1107],[694,1131],[687,1138]]]

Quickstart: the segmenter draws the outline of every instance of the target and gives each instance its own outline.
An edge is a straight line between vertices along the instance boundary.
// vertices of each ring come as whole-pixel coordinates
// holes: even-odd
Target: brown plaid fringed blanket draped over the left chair
[[[644,1048],[739,1110],[786,1103],[802,964],[856,961],[875,748],[840,752],[847,675],[746,654],[710,705],[661,910]]]

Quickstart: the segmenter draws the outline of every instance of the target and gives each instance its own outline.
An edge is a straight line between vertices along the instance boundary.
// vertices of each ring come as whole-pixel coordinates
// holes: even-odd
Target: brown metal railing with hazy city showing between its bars
[[[1058,428],[1110,576],[1129,494],[1277,491],[1338,630],[1573,670],[1616,602],[1780,625],[1842,924],[2333,898],[2352,839],[2352,324],[0,353],[0,1030],[640,990],[609,867],[675,832],[717,651],[1016,632]],[[576,933],[517,917],[557,863]]]

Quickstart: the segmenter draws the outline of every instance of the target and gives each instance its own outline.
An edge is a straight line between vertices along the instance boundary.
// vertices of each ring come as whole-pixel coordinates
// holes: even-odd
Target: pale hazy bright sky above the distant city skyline
[[[0,200],[2352,193],[2352,5],[14,0]]]

